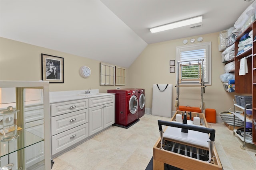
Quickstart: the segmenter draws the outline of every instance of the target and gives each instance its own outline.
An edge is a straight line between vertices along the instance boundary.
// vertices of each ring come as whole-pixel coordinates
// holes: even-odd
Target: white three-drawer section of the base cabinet
[[[52,156],[89,136],[88,99],[51,104]]]

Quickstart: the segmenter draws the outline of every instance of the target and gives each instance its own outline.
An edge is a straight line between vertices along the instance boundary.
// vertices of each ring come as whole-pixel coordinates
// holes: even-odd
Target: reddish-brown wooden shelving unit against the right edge
[[[238,43],[243,35],[253,31],[256,36],[256,21],[247,27],[235,42],[235,55],[238,52]],[[248,57],[249,56],[249,57]],[[248,74],[239,76],[240,59],[246,57],[248,64]],[[252,48],[235,56],[235,86],[236,93],[252,94],[252,119],[256,119],[256,40],[253,40]],[[252,143],[256,145],[256,129],[252,128]]]

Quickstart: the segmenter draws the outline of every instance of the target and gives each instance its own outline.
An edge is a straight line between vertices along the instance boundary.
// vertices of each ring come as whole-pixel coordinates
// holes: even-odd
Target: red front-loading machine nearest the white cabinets
[[[115,123],[128,128],[138,122],[138,98],[134,89],[114,89],[108,93],[115,93]]]

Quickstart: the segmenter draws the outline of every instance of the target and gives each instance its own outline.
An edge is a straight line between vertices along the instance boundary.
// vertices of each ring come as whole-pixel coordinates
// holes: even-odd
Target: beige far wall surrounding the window
[[[220,74],[224,73],[221,52],[218,51],[218,33],[200,35],[202,42],[212,42],[212,85],[207,86],[204,94],[206,108],[216,109],[216,112],[225,111],[233,107],[234,93],[226,92],[220,81]],[[199,36],[187,37],[197,39]],[[152,107],[153,84],[172,84],[172,110],[175,111],[176,100],[176,73],[170,73],[170,60],[176,63],[176,47],[182,46],[183,39],[176,39],[148,45],[141,55],[128,68],[131,87],[145,88],[146,108]],[[195,43],[198,43],[197,41]],[[191,44],[190,42],[188,44]],[[200,107],[200,88],[180,88],[180,106]]]

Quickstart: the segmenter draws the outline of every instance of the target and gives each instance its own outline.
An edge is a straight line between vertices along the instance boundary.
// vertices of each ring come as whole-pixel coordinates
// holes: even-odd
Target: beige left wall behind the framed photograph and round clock
[[[64,58],[64,83],[50,83],[50,91],[107,89],[126,86],[100,86],[100,61],[78,57],[35,45],[21,43],[0,37],[0,80],[41,79],[41,53]],[[80,67],[91,69],[89,78],[80,76]]]

